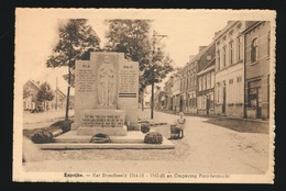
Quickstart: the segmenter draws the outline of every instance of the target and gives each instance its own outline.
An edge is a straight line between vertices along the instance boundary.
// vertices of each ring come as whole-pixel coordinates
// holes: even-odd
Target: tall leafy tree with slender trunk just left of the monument
[[[68,122],[69,91],[72,86],[70,70],[75,68],[75,60],[89,49],[96,48],[100,40],[94,29],[87,24],[86,19],[72,19],[58,29],[59,41],[53,54],[46,61],[46,67],[68,67],[68,88],[65,121]]]

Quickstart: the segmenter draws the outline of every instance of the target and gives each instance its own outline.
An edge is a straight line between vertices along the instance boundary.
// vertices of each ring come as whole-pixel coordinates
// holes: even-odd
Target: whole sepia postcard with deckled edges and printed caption
[[[13,181],[274,183],[275,19],[16,8]]]

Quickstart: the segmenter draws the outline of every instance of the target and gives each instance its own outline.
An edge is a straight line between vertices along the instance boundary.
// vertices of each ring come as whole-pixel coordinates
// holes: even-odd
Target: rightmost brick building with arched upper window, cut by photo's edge
[[[271,23],[254,22],[245,37],[245,117],[270,119]]]

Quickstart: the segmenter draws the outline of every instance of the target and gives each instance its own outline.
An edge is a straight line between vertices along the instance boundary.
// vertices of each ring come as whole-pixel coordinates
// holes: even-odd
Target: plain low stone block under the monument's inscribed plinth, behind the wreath
[[[127,126],[123,127],[79,127],[77,128],[78,136],[96,135],[98,133],[107,134],[109,136],[125,136]]]

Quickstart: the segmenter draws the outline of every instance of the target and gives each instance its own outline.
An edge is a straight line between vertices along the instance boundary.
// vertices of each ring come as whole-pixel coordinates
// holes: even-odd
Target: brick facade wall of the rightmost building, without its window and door
[[[245,33],[245,104],[246,117],[270,117],[270,22],[257,22]],[[257,60],[251,60],[251,47],[253,40],[257,40]],[[260,89],[258,106],[261,108],[261,116],[255,116],[250,109],[250,83],[257,81]],[[257,111],[256,111],[257,112]]]

